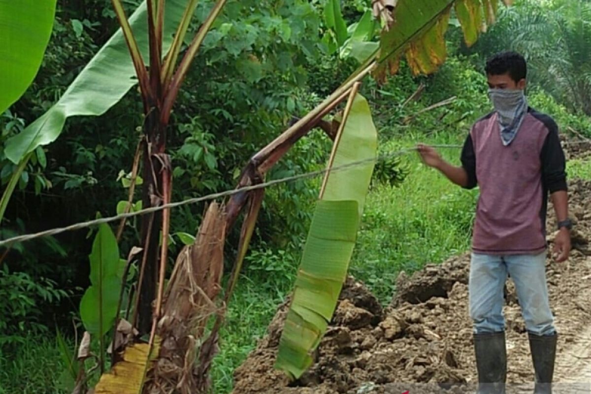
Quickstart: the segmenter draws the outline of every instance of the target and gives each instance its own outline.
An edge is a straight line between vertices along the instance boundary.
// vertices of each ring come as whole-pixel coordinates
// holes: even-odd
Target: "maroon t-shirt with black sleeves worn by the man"
[[[466,188],[480,188],[473,252],[543,252],[548,191],[567,190],[556,122],[529,108],[517,136],[504,146],[492,112],[472,126],[462,149],[462,167],[468,174]]]

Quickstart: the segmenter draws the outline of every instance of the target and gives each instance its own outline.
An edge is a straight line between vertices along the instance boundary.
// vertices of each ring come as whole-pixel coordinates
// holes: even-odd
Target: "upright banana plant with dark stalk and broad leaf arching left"
[[[132,86],[139,84],[145,116],[141,142],[142,206],[147,208],[169,201],[171,168],[165,147],[170,113],[191,61],[225,2],[219,0],[213,5],[191,44],[181,53],[196,0],[150,0],[143,2],[129,19],[121,0],[113,0],[121,29],[87,64],[56,105],[7,142],[7,157],[22,168],[37,146],[49,144],[59,136],[67,118],[101,115],[119,102]],[[131,60],[125,47],[131,53]],[[18,179],[18,176],[20,173],[13,178]],[[7,191],[3,206],[8,198]],[[161,278],[163,282],[165,267],[164,264],[159,267],[158,262],[166,261],[167,223],[166,212],[142,220],[144,259],[137,308],[141,333],[149,332],[154,325],[152,302],[157,293],[161,298],[163,292],[162,286],[157,291],[157,281]],[[164,236],[163,247],[159,250],[160,231]]]

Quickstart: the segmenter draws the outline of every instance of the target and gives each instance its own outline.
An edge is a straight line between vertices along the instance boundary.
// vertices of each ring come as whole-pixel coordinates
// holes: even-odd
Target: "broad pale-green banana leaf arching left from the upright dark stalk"
[[[176,27],[183,17],[187,1],[168,0],[165,5],[164,53],[170,47]],[[142,56],[145,61],[148,61],[150,51],[148,50],[146,8],[144,1],[131,15],[129,22]],[[67,118],[77,115],[102,115],[118,103],[135,84],[137,84],[137,79],[134,65],[121,29],[119,29],[100,48],[53,107],[28,125],[24,131],[8,139],[5,154],[12,162],[18,164],[37,146],[55,141]]]

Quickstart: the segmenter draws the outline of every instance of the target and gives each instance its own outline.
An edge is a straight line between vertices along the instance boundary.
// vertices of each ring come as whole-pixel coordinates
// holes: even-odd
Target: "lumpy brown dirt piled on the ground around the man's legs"
[[[560,333],[558,380],[577,373],[573,372],[573,360],[580,354],[569,354],[582,341],[580,333],[591,315],[591,306],[587,305],[591,295],[591,183],[574,181],[570,189],[571,213],[577,220],[574,250],[567,263],[550,259],[547,263],[551,305]],[[548,229],[556,228],[552,211],[550,207]],[[553,234],[548,235],[550,243],[552,239]],[[296,382],[289,382],[273,369],[287,314],[285,301],[269,325],[268,335],[236,369],[233,393],[400,394],[415,383],[430,383],[432,392],[449,383],[474,383],[468,268],[466,254],[440,265],[428,265],[410,277],[402,273],[397,280],[398,294],[384,310],[363,284],[349,278],[329,330],[314,354],[314,365]],[[527,336],[511,282],[505,298],[508,381],[531,382]],[[591,341],[591,331],[587,340]],[[420,392],[430,391],[428,386],[421,386]]]

